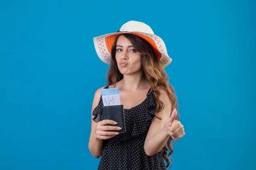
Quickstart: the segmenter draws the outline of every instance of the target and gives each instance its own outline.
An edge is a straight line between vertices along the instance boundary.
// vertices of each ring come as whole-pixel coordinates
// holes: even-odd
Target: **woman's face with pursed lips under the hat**
[[[124,35],[119,36],[116,50],[117,66],[122,74],[142,71],[141,53],[135,50],[132,43]]]

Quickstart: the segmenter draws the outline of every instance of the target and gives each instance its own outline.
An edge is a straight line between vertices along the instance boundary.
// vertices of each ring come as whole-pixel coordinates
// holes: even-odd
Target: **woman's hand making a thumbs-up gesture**
[[[184,126],[180,121],[175,120],[176,117],[177,110],[174,108],[171,117],[164,122],[164,129],[173,139],[180,139],[185,135]]]

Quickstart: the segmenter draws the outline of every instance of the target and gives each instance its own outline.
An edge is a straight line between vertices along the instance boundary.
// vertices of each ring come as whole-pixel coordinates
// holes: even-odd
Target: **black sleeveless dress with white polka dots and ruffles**
[[[108,88],[106,86],[105,88]],[[156,110],[153,91],[139,105],[124,109],[126,132],[103,140],[98,170],[166,170],[161,152],[148,156],[144,142]],[[92,114],[95,122],[103,120],[102,96]]]

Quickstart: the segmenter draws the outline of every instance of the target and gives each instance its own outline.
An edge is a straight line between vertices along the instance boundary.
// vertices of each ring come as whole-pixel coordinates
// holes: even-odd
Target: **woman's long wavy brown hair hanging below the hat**
[[[111,49],[111,62],[110,62],[110,68],[108,71],[108,76],[107,76],[108,85],[114,84],[114,87],[115,87],[116,83],[119,82],[124,77],[124,75],[121,74],[118,69],[117,60],[115,58],[117,40],[120,35],[124,35],[128,40],[130,40],[132,46],[139,53],[141,53],[141,63],[143,66],[142,76],[148,82],[148,84],[150,85],[150,88],[153,90],[154,99],[157,105],[154,117],[156,117],[157,119],[162,119],[157,116],[157,114],[164,109],[164,103],[161,100],[159,100],[160,87],[162,86],[164,89],[166,89],[168,93],[168,97],[171,99],[171,110],[170,110],[171,113],[174,108],[177,108],[177,101],[175,99],[175,94],[174,94],[175,91],[174,91],[174,88],[171,87],[168,83],[168,75],[164,71],[164,68],[162,67],[162,64],[156,52],[154,51],[152,46],[143,38],[130,33],[123,33],[117,36]],[[176,120],[179,120],[179,118],[180,118],[180,115],[177,114]],[[169,164],[171,164],[171,167],[172,167],[172,163],[170,161],[170,156],[173,153],[173,148],[171,145],[172,141],[173,141],[172,137],[169,137],[168,140],[166,141],[166,144],[161,150],[161,154],[164,160],[167,162],[166,168],[168,168]],[[167,155],[168,149],[170,149],[170,152]]]

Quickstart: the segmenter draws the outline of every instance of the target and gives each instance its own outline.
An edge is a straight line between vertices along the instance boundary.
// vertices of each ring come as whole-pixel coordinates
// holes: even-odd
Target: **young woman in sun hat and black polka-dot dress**
[[[129,21],[117,33],[94,38],[94,45],[101,60],[110,64],[108,86],[95,92],[92,103],[88,146],[94,157],[101,156],[98,170],[166,170],[172,140],[185,133],[163,69],[172,61],[163,40],[143,22]],[[119,88],[125,133],[107,125],[117,122],[103,120],[102,88]]]

